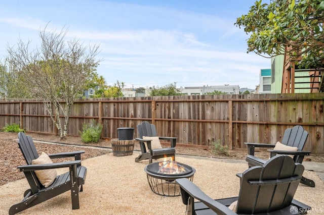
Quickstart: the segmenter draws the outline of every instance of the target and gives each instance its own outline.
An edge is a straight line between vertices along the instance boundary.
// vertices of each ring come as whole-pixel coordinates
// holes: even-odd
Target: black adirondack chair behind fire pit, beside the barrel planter
[[[156,128],[154,124],[150,124],[149,122],[142,122],[137,125],[137,132],[139,138],[135,138],[140,142],[141,154],[135,158],[135,162],[140,162],[144,159],[149,159],[149,163],[152,163],[152,159],[158,159],[162,157],[173,157],[175,158],[176,154],[176,137],[158,137],[160,140],[170,141],[170,146],[168,148],[158,148],[152,149],[151,140],[143,139],[143,137],[157,137]],[[147,147],[145,146],[145,143]]]

